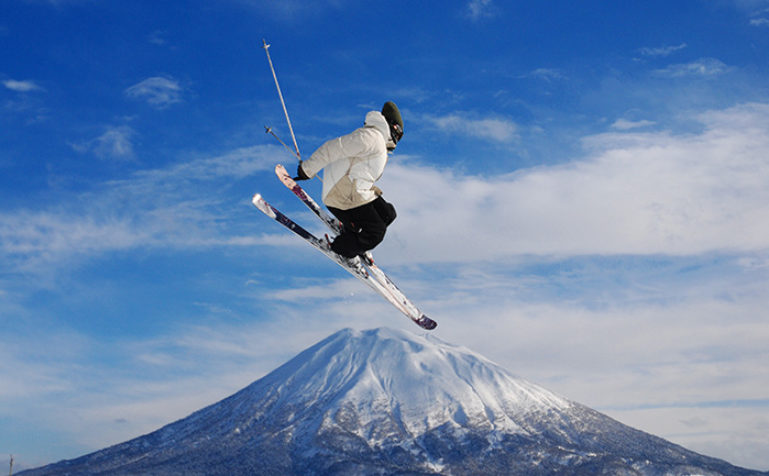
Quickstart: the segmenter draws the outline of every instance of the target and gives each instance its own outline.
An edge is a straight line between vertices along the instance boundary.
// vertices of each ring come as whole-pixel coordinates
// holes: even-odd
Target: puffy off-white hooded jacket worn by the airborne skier
[[[323,203],[349,210],[376,200],[381,191],[374,186],[387,164],[390,127],[378,111],[366,114],[365,125],[331,139],[302,162],[308,177],[323,172]]]

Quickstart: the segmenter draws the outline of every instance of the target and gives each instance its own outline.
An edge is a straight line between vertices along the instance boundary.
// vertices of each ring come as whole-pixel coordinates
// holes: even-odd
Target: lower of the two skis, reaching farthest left
[[[393,295],[391,290],[388,287],[386,287],[385,284],[381,283],[379,279],[372,276],[372,274],[369,272],[369,269],[367,269],[366,266],[363,265],[360,258],[348,260],[334,253],[327,246],[327,244],[324,243],[322,239],[316,237],[309,231],[305,230],[296,222],[294,222],[285,214],[283,214],[280,210],[270,205],[266,200],[264,200],[264,198],[262,198],[260,194],[257,193],[256,195],[254,195],[252,199],[252,203],[256,208],[261,210],[265,215],[277,221],[278,223],[285,226],[289,230],[293,231],[296,235],[303,238],[310,245],[315,247],[318,251],[325,254],[329,258],[331,258],[332,261],[334,261],[336,264],[344,268],[347,272],[349,272],[350,274],[358,278],[360,281],[362,281],[364,284],[369,286],[371,289],[376,291],[379,295],[384,297],[390,304],[392,304],[396,309],[398,309],[407,317],[409,317],[412,321],[414,321],[418,326],[427,330],[435,328],[435,326],[437,325],[435,321],[428,318],[422,313],[418,313],[418,314],[415,313],[413,309],[413,305],[407,307],[403,304],[403,302],[399,301],[399,299],[395,295]]]

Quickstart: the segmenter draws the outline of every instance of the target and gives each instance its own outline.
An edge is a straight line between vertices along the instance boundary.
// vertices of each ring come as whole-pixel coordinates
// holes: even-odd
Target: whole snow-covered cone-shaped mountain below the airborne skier
[[[758,475],[432,336],[343,330],[189,417],[23,473]]]

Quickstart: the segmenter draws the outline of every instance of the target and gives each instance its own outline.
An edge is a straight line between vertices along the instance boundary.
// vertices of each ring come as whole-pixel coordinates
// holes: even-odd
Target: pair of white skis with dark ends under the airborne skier
[[[307,194],[288,174],[286,169],[278,164],[275,166],[275,174],[280,181],[294,195],[296,195],[313,213],[329,228],[332,234],[338,234],[342,229],[342,224],[334,217],[326,213],[315,200]],[[382,271],[375,263],[370,252],[367,252],[363,259],[356,256],[354,258],[344,258],[333,251],[326,239],[318,238],[292,219],[283,214],[280,210],[270,205],[261,194],[253,197],[252,203],[265,215],[293,231],[296,235],[303,238],[306,242],[316,248],[318,251],[328,256],[336,264],[344,268],[347,272],[358,278],[364,284],[384,297],[396,309],[402,312],[406,317],[414,321],[423,329],[435,329],[438,325],[435,321],[427,317],[420,311],[402,292],[395,283]]]

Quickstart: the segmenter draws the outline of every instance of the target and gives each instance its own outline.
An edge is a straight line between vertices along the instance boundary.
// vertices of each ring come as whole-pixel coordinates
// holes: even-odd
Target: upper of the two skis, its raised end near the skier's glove
[[[291,178],[291,175],[283,165],[278,164],[275,166],[275,175],[278,176],[278,179],[286,186],[286,188],[291,190],[294,195],[296,195],[323,223],[326,224],[334,235],[338,235],[342,231],[342,223],[321,208],[318,203]],[[416,322],[420,327],[425,329],[434,329],[438,325],[435,321],[420,311],[419,308],[417,308],[406,295],[403,294],[398,286],[395,285],[393,280],[374,263],[374,258],[371,256],[371,253],[366,253],[366,257],[362,261],[374,279],[391,293],[392,299],[400,303],[400,306],[396,307],[398,307],[401,312],[404,312],[404,314]]]

